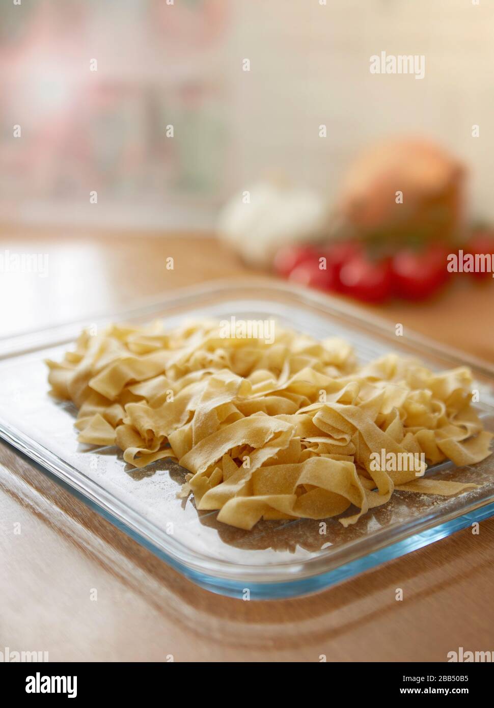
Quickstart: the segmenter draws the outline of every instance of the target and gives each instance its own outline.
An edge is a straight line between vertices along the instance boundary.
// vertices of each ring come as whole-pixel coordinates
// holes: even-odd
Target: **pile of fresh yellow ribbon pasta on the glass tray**
[[[375,452],[457,465],[490,455],[468,368],[432,373],[392,353],[360,366],[339,338],[280,326],[272,341],[225,337],[213,321],[114,324],[84,331],[47,364],[52,394],[79,409],[80,442],[117,445],[134,467],[173,458],[188,470],[181,496],[246,530],[352,506],[339,519],[347,526],[395,490],[476,486],[423,478],[426,464],[419,475],[374,469]]]

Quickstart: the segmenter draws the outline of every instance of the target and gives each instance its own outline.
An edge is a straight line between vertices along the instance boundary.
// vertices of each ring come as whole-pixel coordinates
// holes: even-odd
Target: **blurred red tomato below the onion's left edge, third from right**
[[[364,302],[383,302],[391,295],[389,261],[369,261],[362,253],[340,270],[343,292]]]

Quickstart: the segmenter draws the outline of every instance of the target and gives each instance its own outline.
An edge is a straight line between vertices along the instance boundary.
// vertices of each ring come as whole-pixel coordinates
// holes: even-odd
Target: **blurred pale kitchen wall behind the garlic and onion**
[[[0,220],[211,229],[266,176],[331,202],[403,134],[468,164],[493,218],[493,21],[488,0],[6,0]],[[425,77],[371,74],[381,51],[425,55]]]

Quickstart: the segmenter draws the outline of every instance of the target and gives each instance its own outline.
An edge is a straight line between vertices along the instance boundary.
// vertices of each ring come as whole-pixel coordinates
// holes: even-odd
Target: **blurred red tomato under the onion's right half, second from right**
[[[423,251],[403,249],[391,261],[395,295],[424,299],[439,290],[447,280],[447,249],[429,246]]]

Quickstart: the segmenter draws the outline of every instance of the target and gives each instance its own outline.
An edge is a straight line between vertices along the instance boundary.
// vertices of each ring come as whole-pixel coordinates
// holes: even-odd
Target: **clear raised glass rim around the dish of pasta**
[[[362,314],[362,310],[358,307],[342,302],[340,299],[335,299],[304,287],[287,286],[263,278],[229,279],[214,280],[199,286],[183,288],[174,292],[173,295],[168,292],[163,297],[159,299],[155,297],[152,301],[142,303],[138,307],[120,309],[111,314],[95,316],[92,319],[91,317],[85,317],[77,322],[21,333],[13,338],[0,338],[0,362],[24,354],[34,353],[39,348],[56,346],[57,344],[72,341],[76,333],[79,333],[81,326],[87,324],[88,321],[98,324],[111,319],[122,321],[123,319],[137,317],[144,318],[148,315],[152,316],[153,312],[166,312],[167,308],[176,308],[178,304],[183,307],[186,307],[187,304],[195,304],[197,297],[204,297],[205,295],[214,297],[215,295],[225,295],[226,292],[230,293],[232,302],[239,301],[242,297],[241,290],[247,291],[250,297],[260,299],[260,301],[263,299],[263,291],[267,291],[272,295],[295,297],[295,299],[299,299],[299,304],[302,306],[316,306],[323,309],[326,315],[337,314],[347,317],[350,320],[350,325],[353,324],[359,326],[360,329],[369,331],[370,336],[374,333],[374,336],[379,335],[381,338],[391,338],[391,325],[388,321],[370,312]],[[469,365],[477,375],[494,379],[494,367],[488,362],[478,360],[471,355],[456,351],[453,348],[444,347],[438,343],[431,343],[427,338],[415,335],[415,333],[407,333],[406,336],[401,338],[401,343],[403,342],[407,342],[415,349],[419,347],[420,351],[426,350],[430,355],[440,355],[443,359],[451,360],[456,365]],[[173,561],[173,565],[178,564],[186,575],[190,576],[190,573],[196,573],[197,576],[209,577],[214,580],[222,578],[226,582],[235,583],[241,580],[244,582],[252,580],[259,586],[268,586],[272,583],[277,585],[294,583],[297,580],[302,581],[326,576],[328,573],[338,571],[339,568],[353,561],[363,560],[369,555],[386,552],[386,549],[396,547],[401,542],[411,542],[415,536],[419,536],[421,533],[427,532],[427,530],[432,530],[443,524],[447,525],[447,523],[455,519],[459,520],[461,517],[475,513],[476,510],[481,510],[481,508],[494,502],[493,493],[486,498],[471,502],[464,508],[442,515],[441,518],[437,518],[437,512],[433,513],[431,509],[431,513],[409,519],[404,524],[396,523],[374,532],[372,536],[353,539],[345,546],[333,550],[331,556],[316,555],[303,560],[280,562],[274,566],[241,564],[233,561],[222,561],[222,559],[211,559],[208,556],[203,556],[200,552],[191,551],[177,539],[163,532],[154,523],[149,522],[140,513],[134,511],[127,503],[115,498],[113,493],[106,491],[103,486],[86,477],[79,469],[59,458],[56,453],[47,447],[32,440],[29,435],[11,426],[3,418],[0,418],[0,435],[25,455],[34,459],[42,468],[47,469],[91,501],[91,503],[98,506],[107,515],[115,518],[119,524],[130,529],[132,537],[137,536],[156,547],[166,557],[168,562]],[[391,538],[386,539],[390,532],[392,532]],[[386,558],[382,559],[382,561],[384,560]],[[200,582],[199,578],[196,579]],[[326,585],[328,584],[331,583],[326,583]]]

